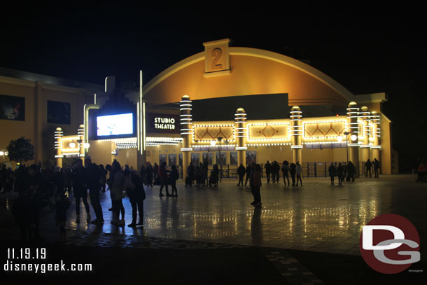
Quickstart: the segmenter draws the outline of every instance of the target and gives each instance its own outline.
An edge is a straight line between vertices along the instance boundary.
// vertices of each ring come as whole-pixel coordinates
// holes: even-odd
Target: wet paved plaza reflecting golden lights
[[[327,178],[304,179],[302,187],[283,186],[283,181],[279,184],[262,182],[262,207],[253,207],[250,188],[236,186],[235,180],[225,179],[218,188],[188,188],[179,183],[179,197],[159,197],[160,186],[146,188],[145,221],[141,228],[111,225],[112,213],[108,211],[111,200],[107,190],[102,193],[104,225],[85,222],[83,203],[80,205],[81,221],[76,223],[75,205],[71,204],[66,244],[152,249],[256,246],[270,249],[265,256],[272,263],[279,260],[290,264],[296,261],[292,256],[277,259],[274,254],[285,256],[286,250],[297,250],[360,256],[359,239],[363,225],[375,216],[387,213],[405,216],[418,230],[421,244],[427,243],[427,184],[416,183],[409,175],[360,178],[344,185],[337,185],[337,182],[331,185]],[[8,239],[19,239],[10,214],[14,197],[10,194],[1,196],[0,233]],[[128,197],[123,204],[129,224],[132,207]],[[91,213],[93,220],[92,207]],[[55,211],[43,211],[41,235],[48,242],[59,239]],[[421,260],[425,254],[425,246],[421,246]],[[310,274],[304,267],[300,273]],[[286,274],[290,273],[284,272],[283,276]],[[312,275],[308,283],[316,281],[321,282]]]

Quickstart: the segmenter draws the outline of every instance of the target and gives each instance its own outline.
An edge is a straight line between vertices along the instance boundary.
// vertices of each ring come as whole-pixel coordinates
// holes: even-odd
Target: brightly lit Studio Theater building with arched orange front
[[[165,161],[183,165],[186,175],[190,162],[208,160],[230,171],[240,163],[288,160],[300,162],[303,174],[312,176],[330,162],[360,166],[377,158],[381,174],[397,171],[391,121],[381,113],[384,93],[353,95],[304,62],[229,42],[204,43],[204,51],[172,65],[139,91],[117,90],[109,77],[102,90],[64,87],[70,93],[43,95],[41,101],[38,83],[19,81],[31,85],[26,95],[20,84],[7,87],[4,81],[12,79],[0,77],[0,95],[25,97],[27,109],[35,104],[35,111],[27,115],[26,110],[31,121],[21,122],[19,133],[31,134],[36,149],[54,144],[43,141],[43,126],[53,124],[57,151],[50,157],[59,165],[66,157],[90,155],[97,163],[117,159],[134,168]],[[76,113],[73,123],[47,122],[47,100],[69,103]],[[16,130],[16,123],[1,118],[2,130]],[[36,125],[41,127],[32,130]],[[0,148],[16,137],[7,134]]]

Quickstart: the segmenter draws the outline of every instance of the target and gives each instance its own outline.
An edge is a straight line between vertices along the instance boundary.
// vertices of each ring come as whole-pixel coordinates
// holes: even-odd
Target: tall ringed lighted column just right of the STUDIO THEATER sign
[[[183,179],[187,176],[187,167],[190,165],[190,153],[193,151],[191,148],[191,135],[193,134],[193,123],[191,115],[191,100],[187,95],[183,96],[179,102],[179,111],[181,116],[181,137],[183,138],[181,152],[183,153]]]

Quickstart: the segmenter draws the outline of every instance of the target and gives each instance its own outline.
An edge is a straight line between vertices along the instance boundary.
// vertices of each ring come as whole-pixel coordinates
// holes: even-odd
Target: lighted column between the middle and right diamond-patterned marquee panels
[[[290,110],[290,136],[292,139],[293,163],[302,163],[302,112],[300,107],[293,106]]]

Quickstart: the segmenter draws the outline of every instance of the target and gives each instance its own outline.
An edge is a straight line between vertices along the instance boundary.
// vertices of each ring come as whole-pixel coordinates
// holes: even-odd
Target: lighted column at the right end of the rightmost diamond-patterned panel
[[[349,161],[354,165],[354,176],[359,176],[359,144],[358,135],[360,127],[358,123],[359,107],[356,102],[350,102],[347,107],[347,130],[349,131]],[[347,136],[348,137],[348,136]]]

